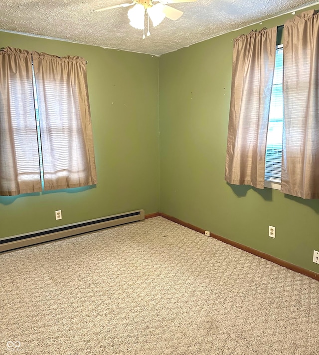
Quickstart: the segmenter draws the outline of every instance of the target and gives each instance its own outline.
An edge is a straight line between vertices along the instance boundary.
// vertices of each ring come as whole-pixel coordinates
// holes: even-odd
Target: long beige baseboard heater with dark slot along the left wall
[[[49,242],[55,239],[72,237],[78,234],[97,231],[121,224],[142,221],[145,219],[144,210],[136,210],[117,215],[91,219],[88,221],[67,224],[61,227],[43,229],[36,232],[19,234],[0,239],[0,252],[27,247],[30,245]]]

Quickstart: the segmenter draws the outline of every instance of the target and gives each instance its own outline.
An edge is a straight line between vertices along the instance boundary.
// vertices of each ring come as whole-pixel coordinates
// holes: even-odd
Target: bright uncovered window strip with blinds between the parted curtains
[[[283,45],[277,46],[266,143],[265,186],[280,190],[283,151]]]

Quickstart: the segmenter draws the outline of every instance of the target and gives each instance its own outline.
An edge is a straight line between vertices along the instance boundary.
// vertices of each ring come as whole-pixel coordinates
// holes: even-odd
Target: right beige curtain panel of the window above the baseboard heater
[[[96,184],[85,60],[37,52],[32,58],[44,190]]]

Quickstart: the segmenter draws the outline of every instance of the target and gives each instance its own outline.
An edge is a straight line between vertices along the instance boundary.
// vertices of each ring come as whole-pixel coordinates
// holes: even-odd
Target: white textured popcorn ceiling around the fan
[[[197,0],[172,4],[184,14],[150,24],[151,36],[129,25],[128,8],[93,9],[130,0],[1,0],[0,29],[106,48],[161,55],[266,18],[317,4],[311,0]],[[129,7],[130,8],[130,7]],[[146,29],[147,31],[147,29]]]

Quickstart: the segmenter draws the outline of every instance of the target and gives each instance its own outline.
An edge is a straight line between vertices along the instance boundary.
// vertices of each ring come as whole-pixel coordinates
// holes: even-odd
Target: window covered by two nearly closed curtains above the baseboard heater
[[[96,184],[85,60],[7,47],[0,76],[0,195]]]

